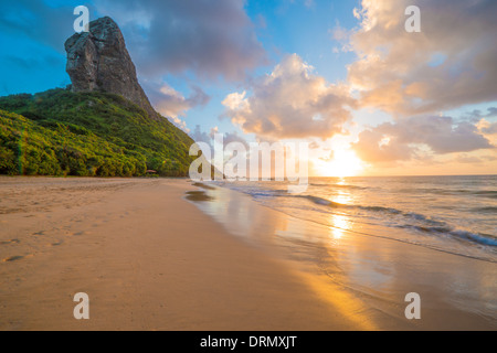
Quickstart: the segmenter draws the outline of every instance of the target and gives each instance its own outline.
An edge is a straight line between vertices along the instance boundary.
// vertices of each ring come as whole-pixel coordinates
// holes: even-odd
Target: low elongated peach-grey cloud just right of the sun
[[[367,162],[393,162],[426,158],[430,154],[472,152],[494,146],[478,128],[452,117],[424,116],[385,122],[359,133],[352,143],[358,157]]]

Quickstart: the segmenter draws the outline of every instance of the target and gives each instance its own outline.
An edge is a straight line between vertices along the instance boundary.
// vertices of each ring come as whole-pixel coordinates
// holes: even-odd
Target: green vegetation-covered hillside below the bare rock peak
[[[193,140],[107,93],[0,97],[0,174],[186,176]]]

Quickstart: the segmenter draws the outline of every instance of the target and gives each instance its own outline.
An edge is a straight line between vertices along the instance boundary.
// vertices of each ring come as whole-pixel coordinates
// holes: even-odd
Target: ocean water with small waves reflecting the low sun
[[[310,178],[218,182],[297,218],[372,237],[497,263],[497,175]]]

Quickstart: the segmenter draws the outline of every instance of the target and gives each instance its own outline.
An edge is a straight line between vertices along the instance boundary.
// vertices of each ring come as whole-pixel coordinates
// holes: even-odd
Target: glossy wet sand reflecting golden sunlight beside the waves
[[[328,227],[260,204],[251,195],[229,188],[203,191],[230,204],[224,210],[209,207],[209,202],[197,203],[228,232],[303,272],[304,280],[324,300],[332,302],[334,291],[356,300],[380,330],[497,329],[496,263]],[[231,211],[236,208],[244,210],[240,220]],[[251,218],[248,226],[244,217]],[[403,311],[409,304],[404,296],[416,291],[423,302],[423,320],[419,322],[406,320]]]

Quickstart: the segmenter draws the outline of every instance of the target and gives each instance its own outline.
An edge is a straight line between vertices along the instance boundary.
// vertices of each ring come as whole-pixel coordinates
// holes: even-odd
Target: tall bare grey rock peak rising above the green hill
[[[89,32],[76,33],[65,42],[65,51],[73,92],[117,94],[145,109],[151,118],[159,117],[138,83],[123,33],[113,19],[92,21]]]

